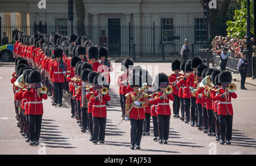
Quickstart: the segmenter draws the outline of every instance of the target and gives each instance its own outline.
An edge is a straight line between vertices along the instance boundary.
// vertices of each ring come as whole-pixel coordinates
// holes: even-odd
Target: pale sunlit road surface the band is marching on
[[[117,67],[120,63],[116,63]],[[159,72],[171,74],[171,63],[135,63],[144,65],[152,75]],[[115,68],[114,68],[115,69]],[[143,136],[141,150],[130,150],[130,122],[123,121],[114,132],[114,127],[121,121],[118,86],[110,85],[112,97],[107,107],[106,137],[104,144],[89,141],[88,132],[81,133],[75,118],[71,118],[69,98],[64,94],[63,107],[53,107],[51,99],[43,101],[44,114],[40,146],[30,146],[16,127],[13,86],[10,83],[14,62],[0,62],[0,154],[3,155],[208,155],[208,154],[256,154],[256,87],[247,85],[248,90],[237,88],[237,99],[232,99],[233,135],[231,145],[221,145],[215,137],[209,137],[203,131],[185,124],[171,116],[168,144],[153,141],[152,120],[150,135]],[[112,73],[117,75],[118,71]],[[117,79],[117,78],[116,78]],[[116,80],[112,78],[114,83]],[[236,83],[240,87],[240,83]],[[172,101],[170,102],[172,105]],[[172,107],[171,107],[172,110]]]

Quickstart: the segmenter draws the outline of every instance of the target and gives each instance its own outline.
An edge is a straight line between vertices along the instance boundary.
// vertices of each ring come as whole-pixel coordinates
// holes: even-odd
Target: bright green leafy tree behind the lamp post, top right
[[[230,37],[238,37],[243,39],[246,35],[246,16],[247,16],[247,1],[238,0],[240,6],[234,11],[233,20],[226,22],[228,28],[226,31]],[[254,34],[254,0],[250,0],[250,28],[251,33]]]

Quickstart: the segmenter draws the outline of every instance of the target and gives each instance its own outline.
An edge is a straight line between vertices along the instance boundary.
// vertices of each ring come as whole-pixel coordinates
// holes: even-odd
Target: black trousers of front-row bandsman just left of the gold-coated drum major
[[[105,141],[106,117],[93,117],[93,140]]]

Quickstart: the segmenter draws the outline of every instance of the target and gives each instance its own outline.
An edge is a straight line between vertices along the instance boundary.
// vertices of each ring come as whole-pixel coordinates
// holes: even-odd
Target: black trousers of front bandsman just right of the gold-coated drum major
[[[168,140],[170,130],[170,115],[158,114],[159,138]]]

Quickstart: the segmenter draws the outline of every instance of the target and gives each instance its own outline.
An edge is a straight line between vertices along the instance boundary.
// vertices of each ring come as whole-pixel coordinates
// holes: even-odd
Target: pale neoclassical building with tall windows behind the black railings
[[[9,39],[14,29],[33,34],[34,24],[47,25],[47,34],[71,34],[68,20],[68,0],[45,0],[46,8],[38,8],[40,0],[0,1],[1,36]],[[218,0],[221,3],[223,0]],[[158,53],[160,44],[177,52],[188,39],[189,44],[205,44],[205,23],[200,0],[84,0],[85,31],[100,44],[104,33],[110,52],[131,53],[133,45],[140,53]],[[236,6],[237,0],[230,5]],[[75,6],[75,5],[74,5]],[[76,33],[74,7],[74,32]],[[11,28],[10,25],[14,25]],[[18,27],[17,27],[18,25]],[[197,49],[197,48],[195,48]]]

